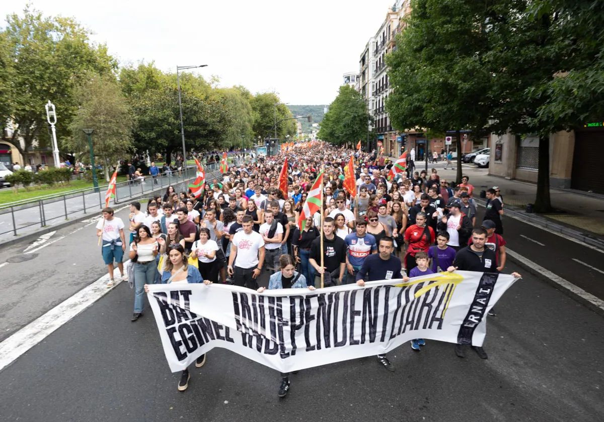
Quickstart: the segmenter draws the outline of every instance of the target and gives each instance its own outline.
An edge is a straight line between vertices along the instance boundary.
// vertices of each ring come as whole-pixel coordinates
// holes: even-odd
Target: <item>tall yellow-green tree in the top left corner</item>
[[[4,131],[2,136],[21,154],[31,149],[34,140],[48,139],[44,106],[49,99],[57,108],[57,136],[65,139],[77,107],[74,89],[90,74],[111,74],[117,67],[106,47],[92,45],[88,34],[73,19],[43,17],[29,6],[22,17],[7,17],[0,44],[7,53],[3,58],[8,69],[0,72],[0,78],[9,79],[0,81],[0,89],[4,87],[2,97],[8,102],[4,107],[18,130],[10,139],[4,138]],[[1,125],[5,124],[2,119]]]

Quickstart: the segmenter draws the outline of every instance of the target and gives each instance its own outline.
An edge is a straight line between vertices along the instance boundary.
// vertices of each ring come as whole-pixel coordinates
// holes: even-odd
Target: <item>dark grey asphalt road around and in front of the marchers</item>
[[[63,235],[34,259],[2,267],[0,339],[104,274],[94,222],[48,242]],[[603,297],[599,272],[573,260],[604,270],[602,253],[511,218],[504,237],[517,253]],[[0,265],[30,243],[2,248]],[[420,353],[403,345],[389,353],[395,373],[375,357],[312,368],[292,375],[282,400],[278,373],[219,348],[178,392],[148,304],[130,323],[132,291],[122,283],[0,371],[0,420],[604,420],[602,316],[509,261],[512,271],[524,279],[488,318],[487,361],[472,351],[459,359],[442,342],[428,341]]]

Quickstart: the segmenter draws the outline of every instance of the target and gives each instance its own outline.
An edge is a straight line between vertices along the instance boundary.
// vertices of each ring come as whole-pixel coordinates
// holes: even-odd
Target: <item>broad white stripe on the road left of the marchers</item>
[[[130,261],[124,262],[124,271]],[[114,272],[115,286],[121,283],[120,271],[116,268]],[[38,344],[48,335],[54,332],[71,318],[91,306],[113,288],[108,289],[106,283],[109,280],[109,274],[86,286],[72,297],[67,298],[62,303],[53,307],[37,320],[23,327],[18,332],[11,335],[0,343],[0,371],[14,362],[19,356],[24,354],[34,345]]]

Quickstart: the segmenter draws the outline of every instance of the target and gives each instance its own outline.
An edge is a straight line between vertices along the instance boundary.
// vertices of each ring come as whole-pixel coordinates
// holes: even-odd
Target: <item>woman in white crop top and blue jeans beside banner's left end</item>
[[[137,229],[137,236],[130,244],[130,265],[134,265],[134,313],[132,322],[143,316],[144,295],[143,288],[146,284],[155,283],[157,265],[155,256],[159,252],[159,245],[153,239],[149,227],[141,225]]]

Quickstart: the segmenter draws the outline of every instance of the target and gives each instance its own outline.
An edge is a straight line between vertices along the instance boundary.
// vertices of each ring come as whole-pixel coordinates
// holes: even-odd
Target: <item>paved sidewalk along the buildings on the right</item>
[[[429,164],[428,171],[435,168],[439,171],[440,178],[454,181],[457,170],[445,170],[443,167],[442,163]],[[422,171],[423,168],[416,168],[416,171]],[[579,235],[593,238],[596,245],[604,246],[604,195],[570,189],[550,189],[551,205],[556,212],[547,215],[529,214],[525,210],[527,204],[535,202],[535,184],[489,175],[489,169],[477,168],[473,164],[464,164],[463,174],[470,178],[469,183],[475,187],[474,197],[479,202],[480,191],[499,186],[506,212],[514,212],[516,216],[522,216],[536,224],[539,224],[540,220],[541,225],[554,231],[564,231],[564,228],[578,231]],[[561,230],[557,230],[556,226],[561,227]]]

